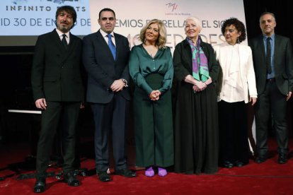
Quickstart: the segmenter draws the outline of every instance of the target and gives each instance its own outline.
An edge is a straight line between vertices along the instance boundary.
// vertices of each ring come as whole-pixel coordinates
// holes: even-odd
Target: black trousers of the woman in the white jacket
[[[248,163],[247,105],[245,102],[218,102],[219,161]]]

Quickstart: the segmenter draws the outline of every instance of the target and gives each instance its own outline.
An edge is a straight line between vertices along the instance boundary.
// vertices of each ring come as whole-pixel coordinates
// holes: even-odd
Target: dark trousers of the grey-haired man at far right
[[[255,134],[258,155],[268,153],[268,122],[270,113],[275,123],[274,129],[277,138],[279,153],[287,153],[288,134],[286,119],[286,95],[280,93],[275,81],[267,81],[265,91],[258,95],[255,105]]]

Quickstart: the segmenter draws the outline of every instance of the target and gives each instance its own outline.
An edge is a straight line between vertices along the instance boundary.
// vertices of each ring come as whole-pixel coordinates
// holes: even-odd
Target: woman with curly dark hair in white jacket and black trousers
[[[237,18],[222,25],[226,42],[215,45],[221,66],[218,83],[219,163],[242,167],[249,161],[247,133],[247,103],[255,104],[257,91],[251,47],[241,45],[246,40],[246,28]]]

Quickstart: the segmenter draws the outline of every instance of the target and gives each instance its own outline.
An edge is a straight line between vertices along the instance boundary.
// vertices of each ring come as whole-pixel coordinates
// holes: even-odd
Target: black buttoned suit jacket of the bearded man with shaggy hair
[[[81,47],[79,37],[70,33],[68,48],[56,30],[40,35],[35,45],[31,83],[35,100],[79,102],[84,100],[81,79]]]

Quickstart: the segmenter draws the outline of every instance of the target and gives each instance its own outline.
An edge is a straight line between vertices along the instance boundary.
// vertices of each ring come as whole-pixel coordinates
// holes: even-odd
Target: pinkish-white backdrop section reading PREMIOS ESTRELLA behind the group
[[[151,19],[163,20],[167,28],[167,46],[172,51],[178,42],[185,39],[184,25],[188,16],[195,16],[202,20],[202,32],[205,42],[212,45],[224,41],[221,32],[222,21],[231,17],[238,18],[244,24],[245,15],[243,0],[89,0],[91,13],[91,32],[96,32],[98,13],[103,8],[112,8],[116,14],[115,32],[125,35],[131,47],[141,42],[138,39],[142,27]],[[247,44],[247,43],[246,43]]]

